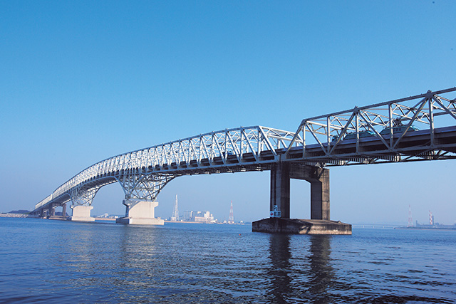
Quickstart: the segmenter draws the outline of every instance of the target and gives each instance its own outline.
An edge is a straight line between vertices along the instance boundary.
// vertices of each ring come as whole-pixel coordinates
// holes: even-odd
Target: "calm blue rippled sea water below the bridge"
[[[0,303],[455,303],[456,231],[0,218]]]

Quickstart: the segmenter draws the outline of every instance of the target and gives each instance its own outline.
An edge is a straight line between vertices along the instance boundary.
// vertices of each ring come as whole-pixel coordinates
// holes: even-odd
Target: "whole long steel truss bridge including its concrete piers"
[[[296,132],[239,127],[120,154],[83,169],[38,202],[32,212],[53,216],[55,208],[62,206],[65,214],[66,204],[71,201],[72,220],[93,220],[90,209],[95,194],[101,187],[118,182],[126,206],[125,217],[118,222],[162,224],[162,220],[155,219],[154,208],[157,195],[172,179],[270,170],[271,219],[254,223],[254,229],[270,230],[267,227],[271,225],[273,231],[295,229],[292,226],[296,223],[279,224],[279,220],[290,218],[290,179],[305,179],[311,183],[311,221],[299,225],[311,233],[309,229],[318,226],[316,221],[336,224],[329,223],[328,167],[454,159],[455,91],[428,90],[408,98],[307,118]]]

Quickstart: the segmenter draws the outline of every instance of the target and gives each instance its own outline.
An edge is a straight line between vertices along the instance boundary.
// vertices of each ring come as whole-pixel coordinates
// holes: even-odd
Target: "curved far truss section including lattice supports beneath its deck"
[[[70,200],[90,205],[98,189],[113,182],[120,183],[126,199],[155,200],[168,182],[182,175],[269,169],[276,151],[289,147],[293,139],[294,132],[239,127],[120,154],[79,172],[36,204],[35,210]],[[296,138],[294,142],[301,143]]]

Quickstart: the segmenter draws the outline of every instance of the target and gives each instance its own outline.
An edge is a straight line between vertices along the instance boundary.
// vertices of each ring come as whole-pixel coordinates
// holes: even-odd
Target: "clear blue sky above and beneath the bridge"
[[[0,211],[115,154],[456,85],[456,1],[0,1]],[[456,161],[331,169],[331,219],[456,222]],[[291,217],[310,217],[291,183]],[[157,216],[269,216],[269,172],[179,177]],[[123,214],[119,184],[93,214]]]

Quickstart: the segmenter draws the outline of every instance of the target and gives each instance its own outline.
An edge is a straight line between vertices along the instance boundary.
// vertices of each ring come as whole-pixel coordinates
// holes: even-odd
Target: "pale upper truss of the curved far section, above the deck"
[[[276,155],[276,150],[288,148],[292,140],[295,146],[302,145],[301,138],[296,137],[294,132],[270,127],[240,127],[208,132],[104,159],[76,174],[58,187],[52,195],[58,197],[94,177],[113,174],[118,170],[164,167],[182,162],[190,164],[190,161],[196,161],[200,167],[204,167],[202,159],[208,159],[209,166],[205,167],[210,167],[215,157],[221,157],[225,164],[230,155],[237,157],[242,164],[242,157],[246,153],[252,153],[255,162],[259,162],[261,152],[269,151]]]

